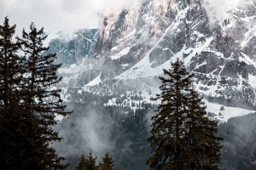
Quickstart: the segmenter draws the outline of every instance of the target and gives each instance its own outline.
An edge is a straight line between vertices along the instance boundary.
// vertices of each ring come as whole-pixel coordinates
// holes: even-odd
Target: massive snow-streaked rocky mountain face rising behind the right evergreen
[[[108,11],[93,54],[96,68],[102,81],[158,76],[178,57],[201,93],[255,105],[255,7],[246,1],[215,23],[206,10],[211,3],[200,0],[148,0]]]

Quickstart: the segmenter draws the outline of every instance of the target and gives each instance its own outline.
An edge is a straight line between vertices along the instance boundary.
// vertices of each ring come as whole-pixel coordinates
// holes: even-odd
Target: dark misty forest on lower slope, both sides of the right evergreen
[[[146,104],[137,110],[125,106],[104,106],[102,103],[66,105],[74,113],[55,127],[64,138],[55,147],[71,163],[68,169],[78,165],[83,151],[88,153],[90,150],[98,159],[108,152],[115,161],[115,167],[121,170],[148,169],[145,161],[151,154],[147,142],[149,120],[156,105]],[[256,113],[219,123],[218,136],[224,138],[219,166],[224,170],[255,169],[255,122]]]

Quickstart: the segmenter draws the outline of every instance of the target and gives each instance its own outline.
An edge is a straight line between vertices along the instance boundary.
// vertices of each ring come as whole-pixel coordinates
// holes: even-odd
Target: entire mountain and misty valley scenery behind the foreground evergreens
[[[256,1],[219,2],[221,17],[213,1],[143,0],[102,11],[98,29],[49,32],[45,45],[62,63],[57,88],[73,111],[59,117],[63,140],[54,145],[70,169],[90,150],[98,159],[108,152],[121,170],[148,169],[150,116],[159,104],[150,99],[177,58],[195,75],[207,116],[220,122],[219,166],[256,168]]]

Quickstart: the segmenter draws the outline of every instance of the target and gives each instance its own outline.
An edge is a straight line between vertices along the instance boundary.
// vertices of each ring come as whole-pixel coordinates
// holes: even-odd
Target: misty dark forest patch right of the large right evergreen
[[[256,169],[256,113],[232,117],[218,125],[218,135],[224,138],[221,150],[224,170]]]

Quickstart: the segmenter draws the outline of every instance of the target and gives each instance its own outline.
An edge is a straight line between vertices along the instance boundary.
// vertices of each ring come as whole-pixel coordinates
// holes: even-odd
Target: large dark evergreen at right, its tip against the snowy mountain
[[[177,59],[171,65],[160,77],[161,94],[154,99],[161,99],[161,104],[151,118],[148,142],[154,155],[146,164],[153,169],[218,169],[217,122],[205,117],[206,108],[192,85],[193,75],[183,62]]]

